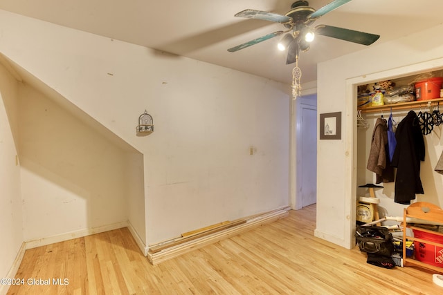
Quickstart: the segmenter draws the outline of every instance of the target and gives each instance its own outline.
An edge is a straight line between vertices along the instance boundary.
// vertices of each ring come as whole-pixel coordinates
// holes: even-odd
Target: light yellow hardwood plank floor
[[[315,205],[289,211],[155,266],[126,228],[29,249],[25,284],[8,294],[443,294],[432,272],[369,265],[358,247],[315,238],[315,216]]]

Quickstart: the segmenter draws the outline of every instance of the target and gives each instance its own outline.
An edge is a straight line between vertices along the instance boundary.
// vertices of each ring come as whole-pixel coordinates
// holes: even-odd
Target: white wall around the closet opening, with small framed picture
[[[343,247],[353,246],[357,185],[356,87],[353,85],[441,68],[443,41],[437,36],[442,29],[437,26],[396,41],[374,44],[318,65],[318,113],[341,111],[343,126],[342,140],[318,141],[316,236]],[[428,145],[431,144],[428,142]],[[434,139],[432,145],[435,149],[431,149],[430,154],[441,151],[441,141]],[[424,169],[428,169],[426,165]],[[424,189],[426,191],[426,187]]]

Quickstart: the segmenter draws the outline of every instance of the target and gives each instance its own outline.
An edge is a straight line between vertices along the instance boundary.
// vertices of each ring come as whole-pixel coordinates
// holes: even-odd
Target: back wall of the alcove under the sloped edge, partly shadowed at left
[[[24,240],[125,222],[125,151],[34,88],[18,97]]]

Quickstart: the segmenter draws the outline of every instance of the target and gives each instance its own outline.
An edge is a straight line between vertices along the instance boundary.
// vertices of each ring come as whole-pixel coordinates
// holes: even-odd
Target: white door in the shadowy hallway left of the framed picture
[[[317,107],[300,104],[300,167],[298,191],[302,207],[317,202]]]

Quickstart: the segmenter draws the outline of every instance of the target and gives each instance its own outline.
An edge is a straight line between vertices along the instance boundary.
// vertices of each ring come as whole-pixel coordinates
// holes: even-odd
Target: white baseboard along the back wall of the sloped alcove
[[[71,240],[73,238],[82,238],[84,236],[90,236],[93,234],[100,234],[105,231],[112,231],[114,229],[121,229],[127,227],[128,222],[122,221],[112,225],[104,225],[102,227],[93,227],[91,229],[81,229],[80,231],[69,231],[64,234],[49,236],[46,238],[39,238],[37,240],[29,240],[26,242],[26,249],[32,249],[40,246],[46,246],[55,242],[63,242],[64,240]]]

